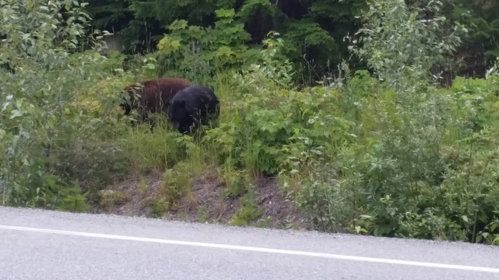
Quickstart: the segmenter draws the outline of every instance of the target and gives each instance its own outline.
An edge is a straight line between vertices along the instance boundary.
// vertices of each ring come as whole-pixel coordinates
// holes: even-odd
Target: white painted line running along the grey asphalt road
[[[401,261],[401,260],[390,260],[390,259],[355,257],[355,256],[344,256],[344,255],[335,255],[335,254],[314,253],[314,252],[304,252],[304,251],[290,251],[290,250],[280,250],[280,249],[270,249],[270,248],[260,248],[260,247],[248,247],[248,246],[235,246],[235,245],[225,245],[225,244],[215,244],[215,243],[189,242],[189,241],[179,241],[179,240],[166,240],[166,239],[156,239],[156,238],[110,235],[110,234],[100,234],[100,233],[87,233],[87,232],[76,232],[76,231],[63,231],[63,230],[51,230],[51,229],[39,229],[39,228],[27,228],[27,227],[4,226],[4,225],[0,225],[0,229],[30,231],[30,232],[42,232],[42,233],[55,233],[55,234],[64,234],[64,235],[86,236],[86,237],[100,237],[100,238],[109,238],[109,239],[131,240],[131,241],[142,241],[142,242],[153,242],[153,243],[164,243],[164,244],[175,244],[175,245],[187,245],[187,246],[198,246],[198,247],[211,247],[211,248],[244,250],[244,251],[253,251],[253,252],[266,252],[266,253],[276,253],[276,254],[298,255],[298,256],[322,257],[322,258],[331,258],[331,259],[340,259],[340,260],[374,262],[374,263],[385,263],[385,264],[395,264],[395,265],[407,265],[407,266],[419,266],[419,267],[430,267],[430,268],[443,268],[443,269],[454,269],[454,270],[467,270],[467,271],[499,273],[499,269],[485,268],[485,267],[471,267],[471,266],[460,266],[460,265],[447,265],[447,264],[423,263],[423,262],[412,262],[412,261]]]

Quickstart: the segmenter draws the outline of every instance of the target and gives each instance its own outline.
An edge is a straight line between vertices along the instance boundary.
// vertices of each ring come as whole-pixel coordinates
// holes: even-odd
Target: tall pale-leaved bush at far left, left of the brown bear
[[[108,94],[123,84],[106,79],[104,69],[113,67],[107,59],[77,53],[88,26],[84,4],[2,0],[0,6],[1,60],[13,69],[0,75],[1,203],[79,211],[75,201],[83,203],[85,194],[74,181],[82,166],[75,164],[98,170],[110,162],[81,154],[116,154],[112,143],[99,140],[118,123]],[[109,91],[97,91],[99,82],[109,82]],[[83,100],[83,92],[91,99]]]

